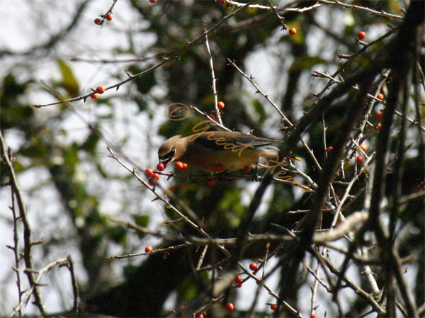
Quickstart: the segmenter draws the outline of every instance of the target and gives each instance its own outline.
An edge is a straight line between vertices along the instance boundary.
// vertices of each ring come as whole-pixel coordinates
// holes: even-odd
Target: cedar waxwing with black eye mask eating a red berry
[[[194,131],[198,125],[193,127]],[[278,160],[279,149],[268,145],[282,142],[280,140],[242,132],[205,130],[188,137],[177,135],[166,140],[158,149],[159,162],[166,165],[171,161],[181,161],[205,171],[222,172],[244,169],[258,163],[260,157]]]

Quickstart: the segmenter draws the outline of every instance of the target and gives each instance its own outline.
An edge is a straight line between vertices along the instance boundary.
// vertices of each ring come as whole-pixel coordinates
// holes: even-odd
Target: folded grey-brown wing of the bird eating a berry
[[[249,146],[249,148],[262,147],[280,140],[268,140],[266,138],[255,137],[254,135],[246,135],[241,132],[218,132],[208,131],[201,132],[190,136],[195,142],[206,149],[222,150],[226,144],[234,145],[234,149]],[[226,149],[226,148],[225,148]]]

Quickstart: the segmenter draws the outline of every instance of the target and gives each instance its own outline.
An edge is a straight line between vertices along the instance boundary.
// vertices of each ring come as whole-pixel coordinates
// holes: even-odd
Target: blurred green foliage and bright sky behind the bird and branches
[[[253,4],[259,7],[242,9],[208,35],[211,57],[205,40],[198,40],[162,67],[123,84],[118,90],[108,90],[94,100],[87,98],[69,104],[32,107],[33,104],[55,103],[86,95],[97,86],[117,84],[127,79],[125,70],[137,74],[154,67],[240,7],[220,2],[158,0],[152,4],[148,0],[118,0],[113,7],[113,19],[96,25],[95,18],[106,13],[113,1],[0,0],[1,132],[15,157],[14,170],[26,204],[33,240],[45,240],[43,244],[33,246],[34,268],[40,269],[55,259],[72,256],[84,312],[119,317],[174,317],[179,315],[179,307],[185,306],[188,309],[184,312],[186,316],[196,313],[210,301],[207,291],[215,278],[212,271],[194,270],[202,252],[202,248],[196,246],[186,246],[166,255],[106,259],[107,256],[142,253],[145,246],[166,248],[181,243],[179,235],[198,234],[184,222],[164,224],[165,220],[176,220],[178,216],[164,203],[154,200],[152,192],[108,157],[108,145],[114,147],[117,157],[130,159],[129,166],[137,164],[142,169],[154,169],[157,149],[166,138],[189,135],[193,125],[205,120],[194,110],[186,120],[168,120],[164,115],[166,106],[183,103],[208,114],[214,113],[211,57],[218,100],[225,102],[223,124],[230,130],[245,133],[253,130],[259,137],[284,140],[288,125],[282,123],[280,115],[266,98],[227,59],[234,61],[244,74],[252,76],[285,116],[297,123],[316,101],[313,93],[319,93],[327,84],[327,79],[313,78],[312,71],[334,74],[346,62],[336,56],[338,52],[353,55],[363,47],[358,42],[359,31],[367,34],[363,41],[371,42],[388,33],[389,25],[394,28],[402,23],[402,19],[337,5],[322,4],[310,8],[316,1],[273,1],[280,8],[310,8],[305,12],[279,11],[284,18],[281,20],[275,12],[263,8],[270,6],[268,1],[257,1]],[[404,1],[346,2],[396,16],[403,16],[407,8]],[[297,33],[289,35],[283,25],[296,28]],[[391,38],[368,47],[344,69],[342,77],[368,64]],[[423,70],[423,46],[419,52],[416,62]],[[382,76],[370,86],[369,93],[378,93],[381,80]],[[386,96],[386,83],[379,87]],[[411,99],[406,114],[414,119],[418,114],[415,100],[419,99],[419,112],[424,112],[423,81],[416,86],[411,83],[407,93]],[[327,158],[327,147],[341,131],[341,120],[349,100],[348,95],[336,99],[324,121],[320,118],[312,123],[303,135],[320,164]],[[384,108],[383,103],[376,101],[371,108],[368,127],[376,126],[375,113]],[[360,123],[361,120],[356,128]],[[323,125],[327,127],[326,134]],[[397,152],[400,125],[401,117],[396,117],[390,159],[394,159]],[[376,150],[377,135],[378,132],[370,130],[364,140],[369,155]],[[405,153],[400,183],[403,195],[423,191],[423,183],[422,188],[420,186],[424,181],[423,138],[423,130],[409,123],[404,141],[409,149]],[[290,150],[302,158],[300,163],[295,163],[297,168],[318,183],[319,171],[302,143],[298,142]],[[349,181],[356,174],[356,156],[347,152],[346,158],[344,171]],[[142,171],[137,172],[142,176]],[[392,175],[391,171],[387,172],[387,189],[390,189]],[[188,174],[200,174],[200,171],[189,169]],[[309,179],[303,176],[297,175],[297,179],[302,184],[309,183]],[[365,193],[362,189],[366,181],[363,177],[360,179],[351,191],[351,202],[344,205],[344,215],[363,209]],[[12,270],[15,266],[13,251],[6,247],[13,244],[8,180],[7,169],[2,163],[1,316],[10,314],[19,303],[16,273]],[[208,186],[208,178],[166,180],[164,177],[159,182],[180,200],[171,198],[171,202],[190,207],[214,238],[235,236],[259,187],[259,183],[251,178],[220,180],[215,186]],[[339,195],[344,193],[343,189],[337,189],[337,192]],[[333,210],[333,200],[329,198],[328,202],[327,208]],[[268,233],[273,229],[271,223],[292,229],[302,214],[287,212],[308,210],[311,203],[310,193],[291,184],[272,183],[261,198],[252,229],[256,234]],[[387,203],[385,199],[382,205]],[[399,254],[408,259],[404,263],[406,279],[420,306],[425,300],[423,198],[409,201],[397,213],[397,246]],[[111,222],[107,215],[173,235],[175,241],[135,233]],[[324,227],[331,224],[333,215],[329,215],[325,217],[324,214],[324,222],[327,222]],[[382,222],[387,221],[384,215]],[[17,231],[20,235],[18,247],[22,249],[23,227],[19,223]],[[340,242],[339,246],[348,249],[348,242]],[[248,266],[261,259],[264,253],[265,243],[251,246],[242,263]],[[372,250],[371,253],[379,255],[378,251]],[[211,248],[204,266],[219,262],[222,257]],[[329,251],[329,257],[337,268],[344,261],[344,254],[334,250]],[[305,262],[314,269],[317,266],[310,255]],[[266,273],[271,273],[266,283],[273,290],[279,290],[280,273],[285,271],[280,257],[271,259],[266,268]],[[19,269],[22,290],[25,290],[28,281],[23,274],[23,262]],[[220,270],[217,268],[217,276],[221,275]],[[353,265],[346,275],[368,290],[362,272],[362,266]],[[379,268],[376,273],[382,289],[385,279],[379,275]],[[72,310],[74,295],[69,272],[55,268],[42,278],[41,283],[47,284],[40,287],[40,293],[48,312]],[[293,307],[304,317],[310,317],[312,312],[310,287],[313,284],[314,277],[304,270],[294,278],[291,295],[288,295]],[[220,302],[220,305],[210,307],[206,316],[271,315],[266,304],[276,302],[254,280],[246,282],[243,288],[226,293],[225,302],[232,301],[237,309],[231,314],[226,313]],[[325,312],[329,317],[360,317],[371,310],[368,302],[348,288],[339,295],[340,311],[324,288],[319,287],[316,297],[319,317],[324,317]],[[38,310],[29,304],[24,312],[33,315]],[[280,314],[292,317],[288,312]],[[364,317],[375,317],[375,313]]]

